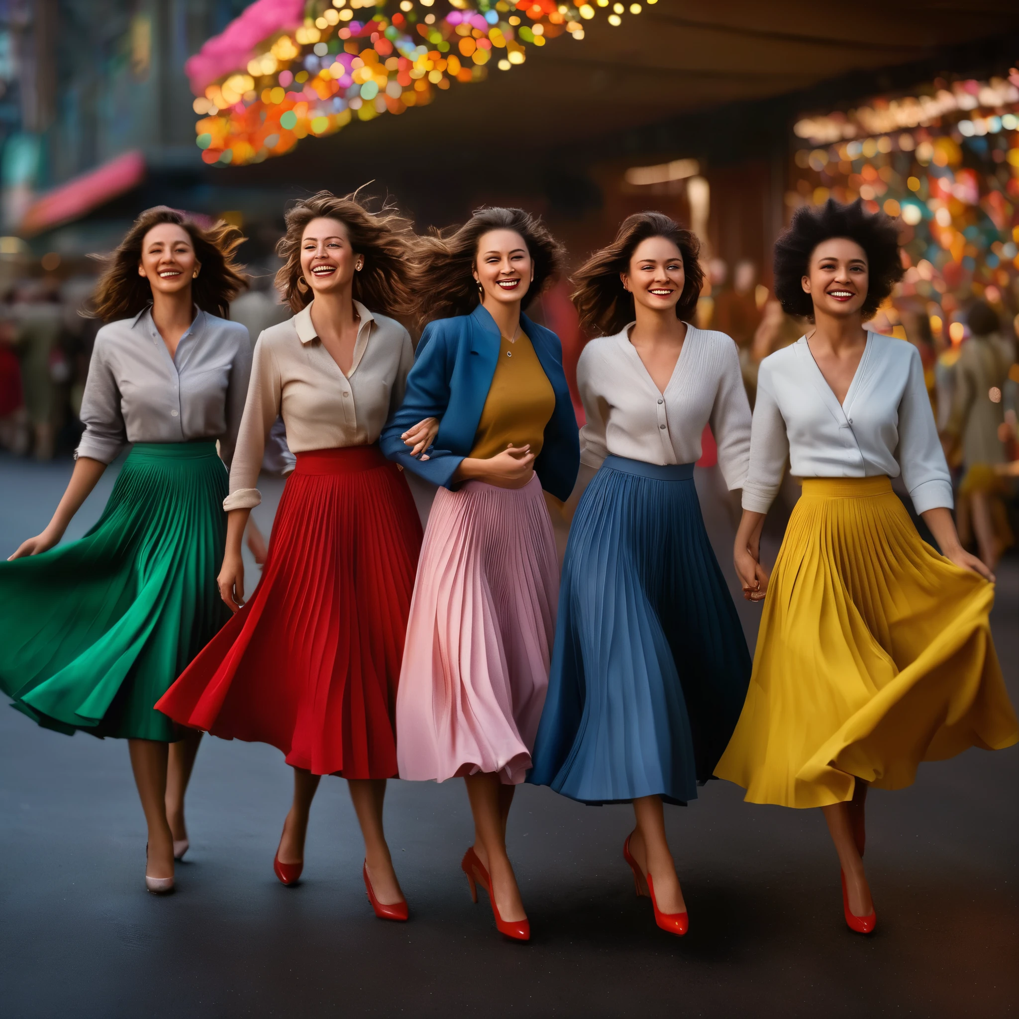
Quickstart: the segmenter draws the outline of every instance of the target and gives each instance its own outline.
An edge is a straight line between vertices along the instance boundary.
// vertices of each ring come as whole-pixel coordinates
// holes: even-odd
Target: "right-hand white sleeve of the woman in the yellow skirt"
[[[923,366],[916,347],[910,351],[909,377],[899,403],[899,448],[896,459],[918,514],[941,506],[952,508],[952,477],[937,438],[937,426],[930,410]]]

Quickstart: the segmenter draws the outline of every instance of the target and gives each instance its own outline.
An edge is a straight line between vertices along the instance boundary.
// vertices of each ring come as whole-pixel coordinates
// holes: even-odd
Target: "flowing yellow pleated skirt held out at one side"
[[[920,539],[887,477],[805,479],[714,773],[751,803],[821,807],[857,777],[902,789],[920,761],[1016,743],[994,597]]]

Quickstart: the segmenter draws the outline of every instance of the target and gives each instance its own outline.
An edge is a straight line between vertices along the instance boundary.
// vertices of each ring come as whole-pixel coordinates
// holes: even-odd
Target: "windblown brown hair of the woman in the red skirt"
[[[359,192],[338,198],[327,191],[302,199],[286,210],[286,232],[276,245],[276,254],[283,260],[276,273],[276,288],[294,314],[315,297],[301,269],[301,240],[305,227],[313,219],[335,219],[342,223],[351,248],[364,259],[361,271],[354,274],[356,301],[382,315],[411,314],[413,301],[408,285],[414,238],[411,221],[387,201],[373,212]]]

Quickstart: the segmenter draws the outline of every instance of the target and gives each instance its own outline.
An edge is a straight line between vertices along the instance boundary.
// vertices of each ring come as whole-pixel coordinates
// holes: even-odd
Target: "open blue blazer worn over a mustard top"
[[[545,441],[534,470],[542,488],[566,500],[580,468],[580,439],[562,372],[562,347],[554,332],[525,315],[521,316],[521,325],[555,392],[555,410],[545,425]],[[428,323],[407,376],[404,403],[386,422],[379,438],[389,460],[433,485],[451,487],[457,468],[474,446],[495,375],[499,345],[498,326],[480,305],[470,315]],[[423,418],[439,419],[439,432],[426,461],[412,457],[399,437]]]

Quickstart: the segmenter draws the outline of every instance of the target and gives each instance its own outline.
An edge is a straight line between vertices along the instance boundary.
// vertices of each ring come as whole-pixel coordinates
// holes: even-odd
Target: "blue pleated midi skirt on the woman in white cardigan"
[[[584,803],[696,799],[750,668],[693,464],[606,458],[570,531],[528,781]]]

